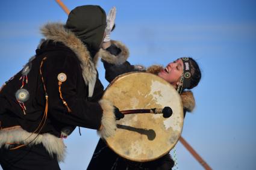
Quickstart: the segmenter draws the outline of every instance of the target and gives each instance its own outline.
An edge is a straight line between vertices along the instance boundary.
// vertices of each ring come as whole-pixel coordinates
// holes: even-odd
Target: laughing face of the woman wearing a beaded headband
[[[180,82],[180,77],[183,74],[183,61],[182,59],[176,59],[170,62],[166,68],[158,73],[158,76],[171,83],[174,87],[177,87]]]

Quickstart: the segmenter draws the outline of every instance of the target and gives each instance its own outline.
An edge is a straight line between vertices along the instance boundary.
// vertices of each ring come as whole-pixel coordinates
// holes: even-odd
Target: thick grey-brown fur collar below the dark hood
[[[54,40],[55,42],[61,42],[65,46],[69,47],[81,61],[81,68],[83,70],[83,78],[86,85],[95,85],[96,81],[96,63],[98,57],[95,57],[94,61],[90,56],[89,51],[83,42],[69,31],[69,29],[64,28],[61,23],[48,23],[41,28],[42,34],[45,36],[46,40]]]

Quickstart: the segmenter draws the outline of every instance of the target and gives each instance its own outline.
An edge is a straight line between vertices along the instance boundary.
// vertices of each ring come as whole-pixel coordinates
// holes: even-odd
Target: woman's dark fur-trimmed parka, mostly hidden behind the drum
[[[111,82],[116,76],[131,71],[146,71],[152,74],[158,74],[163,69],[161,65],[152,65],[149,68],[145,68],[142,65],[131,65],[126,59],[128,55],[123,56],[122,54],[129,54],[128,49],[122,43],[116,43],[111,41],[111,46],[107,50],[100,50],[98,56],[102,58],[102,62],[105,67],[105,78],[108,82]],[[186,111],[193,111],[195,107],[195,100],[191,91],[183,91],[181,93],[181,100],[183,102],[184,115]],[[140,163],[132,162],[122,157],[119,157],[114,151],[107,147],[105,142],[100,139],[96,150],[93,154],[92,160],[87,168],[91,169],[154,169],[163,170],[171,169],[174,165],[173,160],[169,154],[160,157],[157,160],[150,162]]]

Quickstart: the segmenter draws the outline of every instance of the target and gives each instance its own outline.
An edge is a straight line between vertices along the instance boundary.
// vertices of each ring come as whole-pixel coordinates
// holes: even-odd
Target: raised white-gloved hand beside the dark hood
[[[107,27],[105,28],[105,38],[104,42],[110,41],[110,34],[111,30],[114,27],[114,20],[116,19],[116,7],[111,8],[111,10],[108,12],[107,16]]]

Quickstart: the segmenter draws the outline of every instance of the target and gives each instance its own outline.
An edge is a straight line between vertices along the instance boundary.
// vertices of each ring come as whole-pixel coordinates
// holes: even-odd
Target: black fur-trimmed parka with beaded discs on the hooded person
[[[92,58],[82,41],[59,23],[48,23],[41,31],[45,39],[36,56],[1,90],[0,148],[43,144],[62,161],[66,147],[61,138],[76,126],[102,126],[101,138],[114,134],[114,108],[100,100],[104,88],[96,70],[98,57]]]

